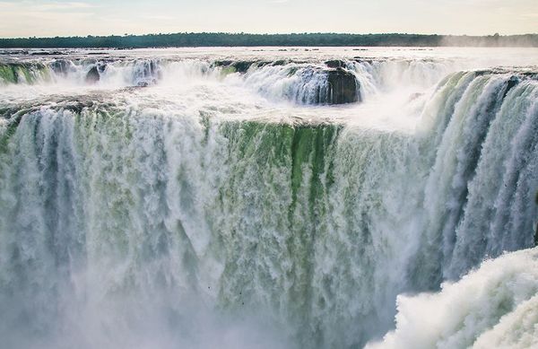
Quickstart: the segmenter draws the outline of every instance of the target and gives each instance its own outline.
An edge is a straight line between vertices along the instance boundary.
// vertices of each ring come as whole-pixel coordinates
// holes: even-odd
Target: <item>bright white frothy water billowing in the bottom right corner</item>
[[[398,296],[396,329],[367,349],[534,348],[538,249],[488,260],[438,293]]]

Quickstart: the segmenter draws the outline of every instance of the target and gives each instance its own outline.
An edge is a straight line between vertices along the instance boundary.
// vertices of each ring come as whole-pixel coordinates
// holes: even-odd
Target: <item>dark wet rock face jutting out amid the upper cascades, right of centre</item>
[[[327,73],[328,104],[345,104],[360,101],[360,85],[354,74],[342,68],[329,70]]]

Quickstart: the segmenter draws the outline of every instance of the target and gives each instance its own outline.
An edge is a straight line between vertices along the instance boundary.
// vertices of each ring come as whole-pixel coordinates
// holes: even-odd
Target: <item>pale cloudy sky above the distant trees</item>
[[[0,0],[0,37],[230,31],[538,32],[538,0]]]

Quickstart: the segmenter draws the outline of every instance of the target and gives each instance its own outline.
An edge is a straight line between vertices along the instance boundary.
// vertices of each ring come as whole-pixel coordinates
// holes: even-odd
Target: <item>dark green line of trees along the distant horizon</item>
[[[0,39],[0,48],[172,48],[238,46],[469,46],[538,47],[538,34],[446,36],[420,34],[176,33],[124,36]]]

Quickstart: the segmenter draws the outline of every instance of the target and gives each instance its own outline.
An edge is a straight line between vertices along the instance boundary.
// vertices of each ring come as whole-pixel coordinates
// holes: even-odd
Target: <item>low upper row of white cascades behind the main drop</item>
[[[334,69],[331,63],[338,62]],[[239,69],[238,69],[239,68]],[[277,60],[212,61],[204,59],[55,58],[48,61],[0,63],[0,87],[9,84],[48,84],[119,88],[154,84],[177,85],[185,79],[228,79],[230,83],[264,95],[269,100],[296,104],[332,104],[334,77],[355,95],[349,101],[365,100],[378,90],[400,85],[430,86],[452,72],[455,65],[443,60],[342,60],[301,62]],[[340,75],[335,75],[339,73]],[[400,86],[401,87],[401,86]]]

